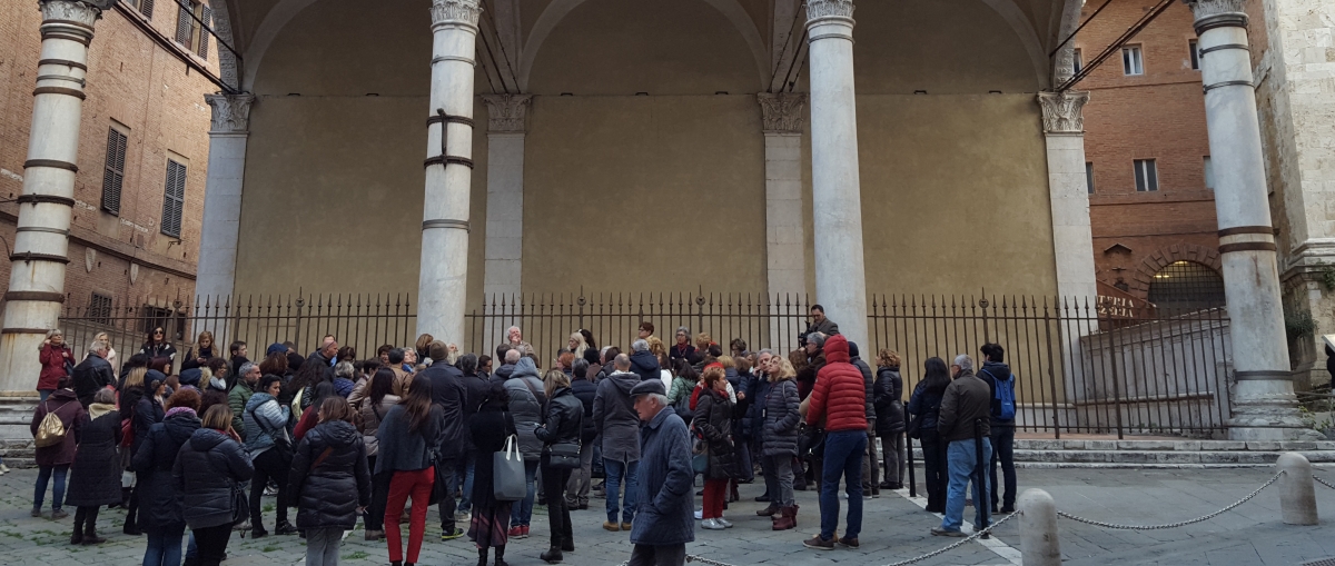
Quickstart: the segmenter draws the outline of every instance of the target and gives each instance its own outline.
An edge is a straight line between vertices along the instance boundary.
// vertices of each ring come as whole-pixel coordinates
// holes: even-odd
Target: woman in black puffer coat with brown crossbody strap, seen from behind
[[[287,491],[294,494],[296,527],[306,533],[306,565],[336,566],[343,531],[371,503],[371,471],[362,435],[352,426],[352,406],[332,395],[320,402],[319,425],[292,455]]]

